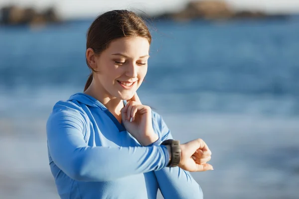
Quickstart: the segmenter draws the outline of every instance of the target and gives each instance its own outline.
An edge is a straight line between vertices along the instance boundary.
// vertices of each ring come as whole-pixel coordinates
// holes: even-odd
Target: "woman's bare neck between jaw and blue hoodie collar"
[[[124,107],[123,100],[105,94],[104,89],[97,87],[94,81],[84,93],[99,100],[115,116],[120,116]]]

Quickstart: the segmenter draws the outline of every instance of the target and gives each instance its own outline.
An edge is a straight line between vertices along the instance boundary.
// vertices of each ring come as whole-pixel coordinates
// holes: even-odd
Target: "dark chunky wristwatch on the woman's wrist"
[[[181,149],[178,140],[165,140],[161,145],[169,145],[171,149],[171,158],[167,167],[176,167],[178,166],[181,159]]]

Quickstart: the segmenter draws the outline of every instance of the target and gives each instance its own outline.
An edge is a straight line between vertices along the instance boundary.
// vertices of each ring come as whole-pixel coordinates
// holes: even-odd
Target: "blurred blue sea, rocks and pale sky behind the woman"
[[[45,123],[83,91],[87,28],[110,9],[149,23],[139,95],[210,147],[204,198],[299,199],[298,0],[0,0],[0,198],[58,199]]]

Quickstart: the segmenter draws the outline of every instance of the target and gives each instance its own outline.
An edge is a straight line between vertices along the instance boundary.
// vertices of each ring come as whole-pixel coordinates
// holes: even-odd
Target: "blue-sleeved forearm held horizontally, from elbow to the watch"
[[[71,154],[50,150],[54,163],[71,178],[103,182],[157,171],[168,163],[165,147],[82,147]],[[56,151],[56,152],[55,152]]]

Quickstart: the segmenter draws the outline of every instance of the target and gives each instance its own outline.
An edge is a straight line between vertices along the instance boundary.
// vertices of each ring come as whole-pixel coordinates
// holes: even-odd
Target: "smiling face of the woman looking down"
[[[99,92],[109,98],[129,100],[142,84],[148,70],[149,41],[143,37],[124,37],[94,56],[91,67]]]

